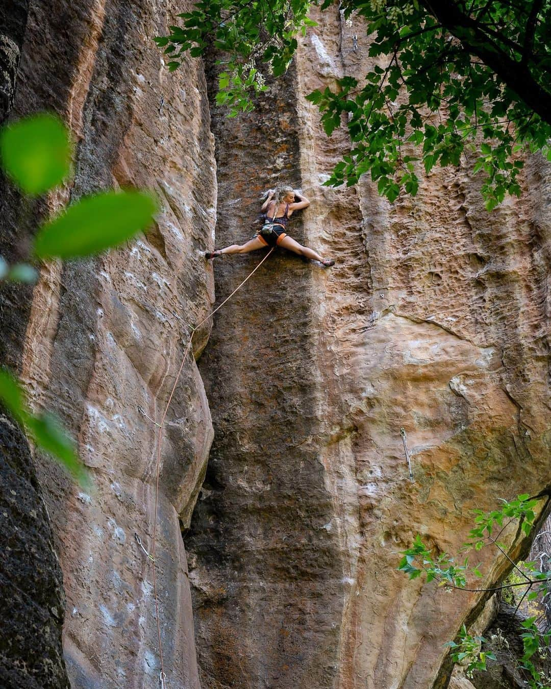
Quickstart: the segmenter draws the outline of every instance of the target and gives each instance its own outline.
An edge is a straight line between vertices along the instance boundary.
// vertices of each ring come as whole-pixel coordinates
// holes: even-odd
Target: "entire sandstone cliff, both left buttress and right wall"
[[[74,184],[48,207],[126,184],[163,202],[147,237],[44,267],[32,295],[2,295],[3,356],[78,438],[96,484],[86,495],[34,457],[63,570],[67,675],[79,688],[157,686],[152,568],[134,539],[150,548],[156,426],[139,408],[158,418],[188,324],[211,310],[200,251],[213,245],[216,209],[216,246],[245,240],[262,189],[291,183],[312,199],[291,235],[337,265],[276,251],[216,314],[208,343],[198,333],[201,375],[186,364],[160,474],[167,686],[446,686],[442,644],[483,601],[409,583],[397,553],[416,533],[455,551],[470,509],[550,489],[549,166],[530,159],[526,194],[492,214],[468,165],[436,171],[393,206],[367,179],[322,187],[349,141],[326,138],[304,96],[366,70],[361,26],[324,12],[258,110],[228,121],[209,114],[202,65],[168,74],[152,44],[182,10],[49,0],[32,6],[23,45],[15,114],[52,108],[78,138]],[[21,204],[6,199],[3,237],[17,254]],[[217,298],[261,255],[216,259]],[[48,686],[61,687],[61,576],[24,445],[10,438],[6,454],[16,473],[26,467],[42,531],[27,520],[25,537],[45,544],[49,564],[37,592],[23,592],[21,621],[37,613],[34,595],[36,624],[52,626]],[[485,565],[493,577],[506,569]],[[40,686],[21,668],[14,677],[6,686]]]

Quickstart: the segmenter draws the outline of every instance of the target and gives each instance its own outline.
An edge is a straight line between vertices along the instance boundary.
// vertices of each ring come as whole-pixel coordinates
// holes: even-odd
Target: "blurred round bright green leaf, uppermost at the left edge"
[[[67,128],[50,114],[19,120],[3,130],[2,164],[28,194],[43,194],[69,174],[72,146]]]

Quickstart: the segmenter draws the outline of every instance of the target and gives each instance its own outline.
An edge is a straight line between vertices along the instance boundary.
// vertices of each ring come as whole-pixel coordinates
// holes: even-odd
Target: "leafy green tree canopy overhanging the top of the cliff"
[[[217,101],[236,115],[265,90],[262,72],[287,69],[297,34],[315,25],[311,7],[332,5],[204,0],[155,40],[170,70],[187,51],[221,51]],[[334,90],[307,96],[329,136],[342,121],[351,135],[351,152],[328,185],[353,185],[370,172],[393,201],[402,189],[417,193],[415,161],[429,172],[459,165],[463,155],[484,172],[492,209],[507,192],[520,194],[519,150],[551,158],[551,0],[342,0],[340,9],[347,21],[362,22],[377,59],[363,79],[346,76]]]

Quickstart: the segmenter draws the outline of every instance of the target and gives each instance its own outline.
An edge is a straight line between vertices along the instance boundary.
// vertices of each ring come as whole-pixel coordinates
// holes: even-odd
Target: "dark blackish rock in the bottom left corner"
[[[68,687],[61,650],[65,599],[48,512],[20,429],[0,415],[2,640],[0,685]]]

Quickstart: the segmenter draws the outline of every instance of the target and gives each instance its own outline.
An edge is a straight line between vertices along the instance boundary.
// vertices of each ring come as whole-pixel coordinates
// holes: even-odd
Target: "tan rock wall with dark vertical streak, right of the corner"
[[[443,644],[484,601],[408,582],[398,553],[417,533],[455,553],[473,508],[550,488],[549,166],[531,158],[526,194],[492,214],[468,165],[393,206],[368,179],[322,187],[349,141],[304,96],[371,59],[360,25],[313,18],[260,110],[212,114],[217,247],[291,183],[312,200],[291,236],[337,265],[276,251],[200,361],[216,433],[185,542],[202,687],[446,686]],[[216,260],[217,295],[260,257]]]

